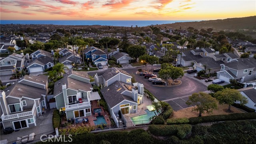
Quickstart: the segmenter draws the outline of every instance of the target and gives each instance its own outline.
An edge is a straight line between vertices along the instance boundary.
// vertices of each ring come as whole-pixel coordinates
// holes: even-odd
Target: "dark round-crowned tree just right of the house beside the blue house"
[[[145,47],[142,47],[141,45],[132,45],[128,48],[129,56],[135,58],[135,60],[137,60],[138,57],[142,56],[145,53]]]

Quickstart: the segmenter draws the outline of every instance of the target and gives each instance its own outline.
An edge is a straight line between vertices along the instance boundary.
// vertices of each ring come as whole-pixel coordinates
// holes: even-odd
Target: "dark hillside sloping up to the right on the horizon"
[[[238,31],[239,29],[254,29],[256,30],[256,16],[244,17],[244,18],[228,18],[228,19],[216,19],[208,21],[194,21],[194,22],[178,22],[158,25],[157,27],[187,29],[188,27],[194,27],[195,29],[208,29],[214,30],[228,30]]]

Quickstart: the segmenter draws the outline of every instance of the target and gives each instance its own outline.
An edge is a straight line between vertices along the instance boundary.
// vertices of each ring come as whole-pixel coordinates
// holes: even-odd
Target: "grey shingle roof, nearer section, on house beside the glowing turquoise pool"
[[[127,86],[125,86],[127,85]],[[109,107],[112,108],[124,99],[129,101],[134,101],[132,97],[128,97],[126,95],[121,94],[123,91],[128,90],[127,87],[134,88],[129,84],[125,84],[123,82],[116,81],[108,87],[101,89],[101,93],[108,103]],[[120,90],[119,90],[120,89]],[[136,101],[134,101],[136,103]]]

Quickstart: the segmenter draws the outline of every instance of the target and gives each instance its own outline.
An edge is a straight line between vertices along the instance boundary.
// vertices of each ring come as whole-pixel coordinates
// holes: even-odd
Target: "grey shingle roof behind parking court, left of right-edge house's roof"
[[[198,64],[201,63],[203,65],[206,65],[206,68],[218,68],[218,67],[221,67],[220,64],[224,64],[224,62],[222,62],[222,60],[215,61],[211,57],[200,58],[200,59],[196,60],[196,62]]]

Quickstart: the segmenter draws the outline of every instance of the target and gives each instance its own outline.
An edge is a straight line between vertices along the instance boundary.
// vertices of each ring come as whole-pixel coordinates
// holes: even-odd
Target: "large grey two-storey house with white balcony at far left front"
[[[24,76],[0,94],[2,124],[14,130],[36,126],[46,109],[48,76]]]

